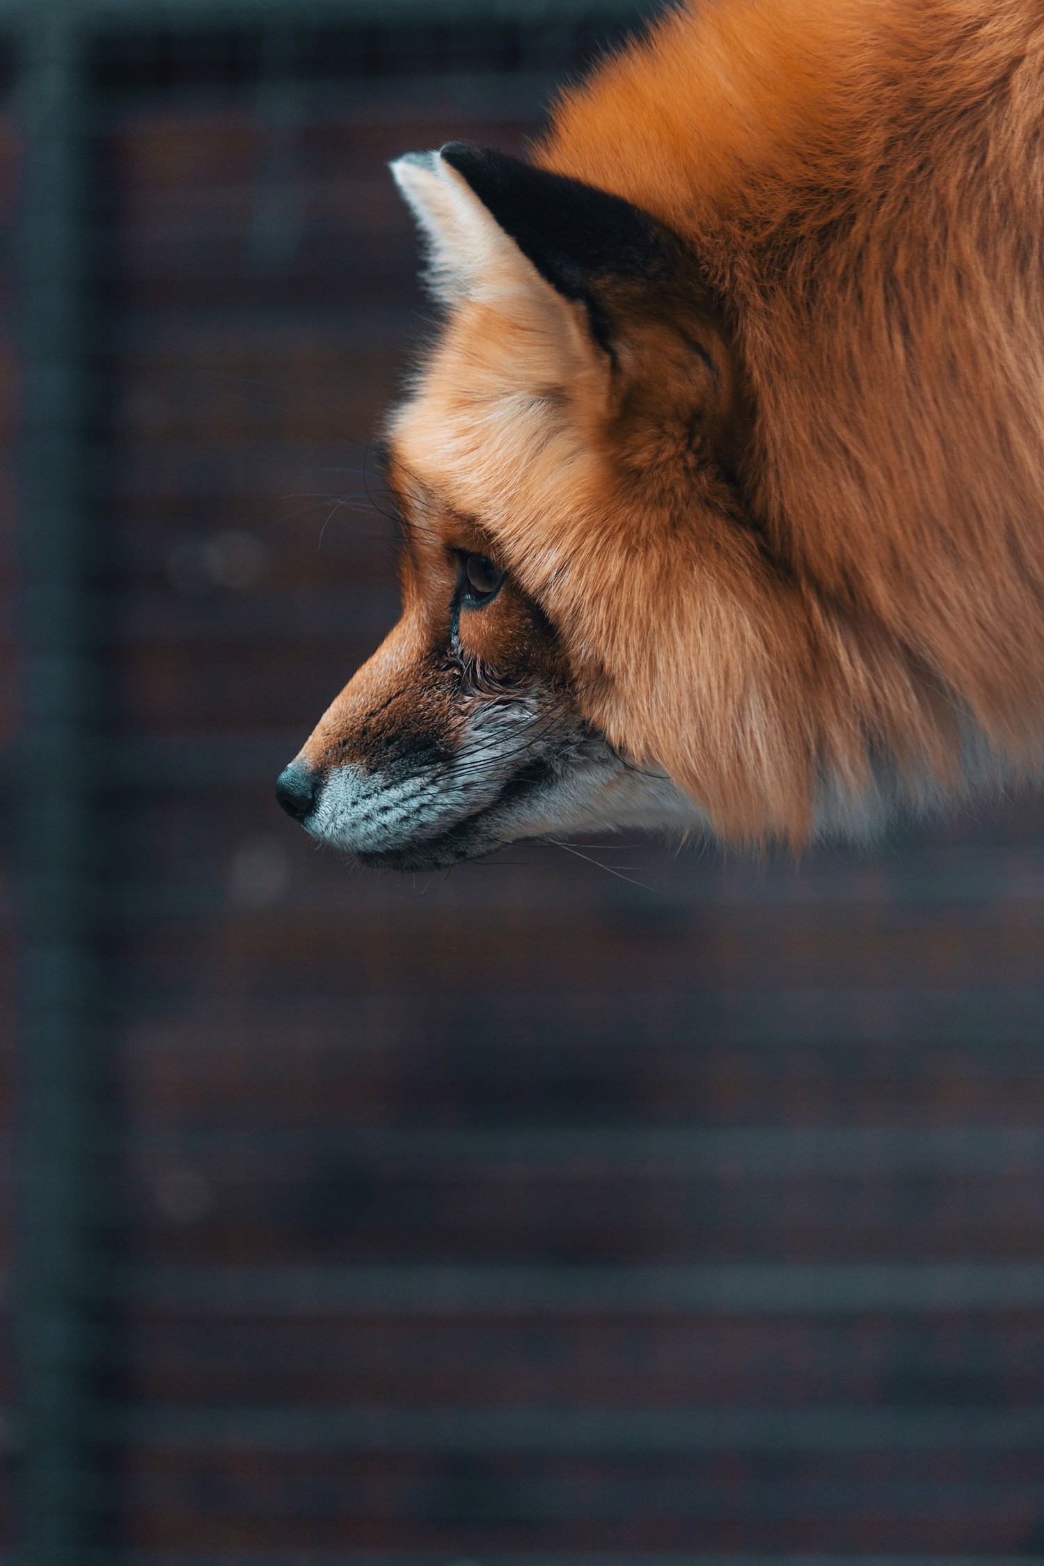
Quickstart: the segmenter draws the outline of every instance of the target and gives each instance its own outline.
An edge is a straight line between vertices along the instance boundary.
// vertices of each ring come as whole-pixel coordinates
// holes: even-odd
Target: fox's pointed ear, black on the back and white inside
[[[587,307],[609,346],[599,279],[661,272],[667,232],[620,196],[537,169],[466,141],[413,152],[391,172],[429,244],[429,280],[440,298],[517,290],[532,271]],[[526,266],[529,263],[529,266]]]

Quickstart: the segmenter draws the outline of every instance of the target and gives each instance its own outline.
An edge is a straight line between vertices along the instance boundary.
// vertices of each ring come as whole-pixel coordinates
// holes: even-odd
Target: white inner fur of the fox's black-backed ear
[[[391,174],[416,218],[427,246],[427,283],[445,304],[476,299],[521,305],[562,319],[573,307],[518,249],[463,175],[438,152],[409,152]],[[534,323],[535,324],[535,323]],[[551,324],[551,321],[548,321]]]

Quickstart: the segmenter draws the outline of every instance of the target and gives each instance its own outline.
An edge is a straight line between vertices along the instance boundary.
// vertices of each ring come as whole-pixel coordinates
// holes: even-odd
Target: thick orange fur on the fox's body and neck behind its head
[[[1036,0],[718,0],[568,94],[540,149],[684,233],[731,304],[750,504],[795,595],[754,637],[808,716],[765,731],[743,835],[801,832],[809,730],[858,769],[856,719],[956,775],[956,703],[1039,760],[1042,103]],[[733,619],[718,662],[751,656]]]

